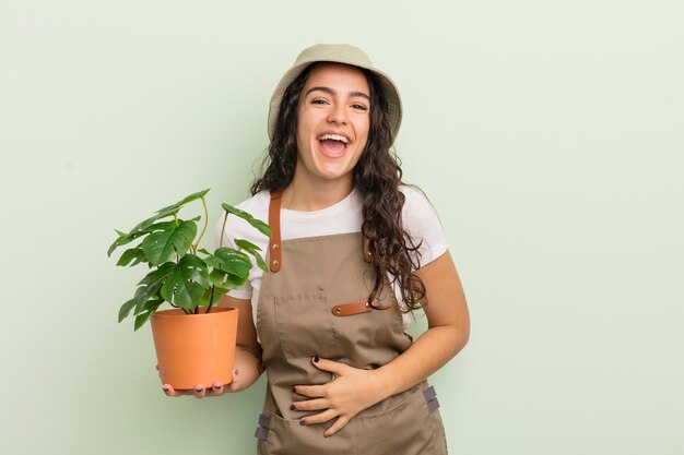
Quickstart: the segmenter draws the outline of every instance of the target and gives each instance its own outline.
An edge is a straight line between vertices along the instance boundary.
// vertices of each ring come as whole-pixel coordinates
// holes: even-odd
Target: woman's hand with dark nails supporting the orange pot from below
[[[215,382],[211,387],[207,387],[204,384],[197,384],[194,388],[178,391],[176,391],[170,384],[163,384],[162,390],[166,396],[193,395],[196,398],[220,396],[224,393],[244,391],[257,382],[261,375],[258,366],[259,359],[257,359],[251,352],[240,349],[238,346],[238,349],[235,350],[235,370],[233,371],[233,381],[229,384],[223,385],[220,382]]]

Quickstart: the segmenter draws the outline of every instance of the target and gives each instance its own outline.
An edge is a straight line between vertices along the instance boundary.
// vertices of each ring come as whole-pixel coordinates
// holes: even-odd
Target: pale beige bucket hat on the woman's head
[[[271,141],[273,140],[273,131],[275,129],[275,120],[278,119],[278,110],[280,109],[281,100],[283,99],[283,94],[290,84],[294,82],[295,79],[302,72],[312,63],[317,62],[335,62],[335,63],[345,63],[354,67],[366,69],[373,72],[380,82],[380,96],[384,96],[387,99],[388,104],[388,116],[390,119],[390,128],[392,132],[392,142],[397,137],[397,133],[399,132],[399,127],[401,125],[401,97],[399,96],[399,89],[397,89],[397,85],[392,82],[392,80],[375,68],[370,62],[368,56],[361,49],[350,45],[314,45],[309,48],[306,48],[297,56],[295,63],[292,65],[287,72],[283,75],[281,81],[275,87],[275,92],[273,92],[273,96],[271,97],[271,105],[269,108],[269,137]]]

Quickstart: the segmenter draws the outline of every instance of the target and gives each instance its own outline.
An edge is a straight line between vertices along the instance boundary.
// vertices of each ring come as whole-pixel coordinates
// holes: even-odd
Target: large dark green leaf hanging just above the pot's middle
[[[194,254],[186,254],[162,286],[162,297],[177,307],[192,310],[209,289],[209,274],[204,261]]]

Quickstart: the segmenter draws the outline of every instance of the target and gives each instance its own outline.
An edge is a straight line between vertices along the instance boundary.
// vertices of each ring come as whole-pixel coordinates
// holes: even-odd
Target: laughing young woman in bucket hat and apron
[[[259,454],[446,454],[426,378],[465,345],[469,314],[435,212],[401,182],[400,122],[392,81],[347,45],[304,50],[273,94],[266,170],[238,205],[273,238],[226,227],[268,252],[269,272],[221,302],[239,309],[233,383],[193,392],[240,391],[266,369]]]

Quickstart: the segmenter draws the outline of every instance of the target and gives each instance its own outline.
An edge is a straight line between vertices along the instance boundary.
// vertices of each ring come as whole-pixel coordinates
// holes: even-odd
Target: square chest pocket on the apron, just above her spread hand
[[[342,355],[326,292],[274,297],[273,307],[278,337],[288,362]]]

